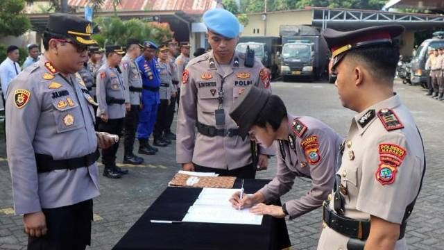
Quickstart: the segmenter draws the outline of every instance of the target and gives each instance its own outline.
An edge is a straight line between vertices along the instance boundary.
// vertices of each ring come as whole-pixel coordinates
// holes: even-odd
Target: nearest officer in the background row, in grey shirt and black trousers
[[[100,117],[99,131],[121,135],[123,118],[125,117],[126,89],[123,84],[119,64],[122,60],[123,50],[119,45],[105,47],[106,63],[97,72],[97,116]],[[128,174],[128,169],[116,165],[116,153],[119,142],[110,149],[102,150],[102,163],[105,165],[103,176],[108,178],[121,178]]]

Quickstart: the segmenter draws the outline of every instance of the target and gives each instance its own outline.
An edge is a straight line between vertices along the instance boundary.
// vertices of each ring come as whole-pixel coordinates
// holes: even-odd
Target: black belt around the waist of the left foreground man
[[[97,149],[93,153],[77,158],[54,160],[52,156],[36,153],[35,163],[37,164],[37,173],[51,172],[58,169],[78,169],[80,167],[89,167],[99,159],[100,153]]]

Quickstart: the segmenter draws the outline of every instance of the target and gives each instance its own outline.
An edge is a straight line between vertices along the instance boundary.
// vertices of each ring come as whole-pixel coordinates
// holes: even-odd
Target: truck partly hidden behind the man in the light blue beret
[[[239,38],[237,51],[245,52],[247,46],[255,51],[255,57],[261,60],[262,64],[270,69],[271,77],[278,76],[277,52],[280,51],[281,40],[277,37],[244,36]]]

